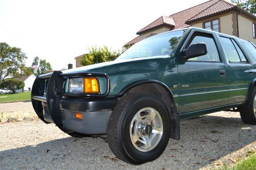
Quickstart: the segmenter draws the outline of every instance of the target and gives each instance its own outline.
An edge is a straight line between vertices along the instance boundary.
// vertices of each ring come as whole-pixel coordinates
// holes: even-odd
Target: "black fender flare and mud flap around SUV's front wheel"
[[[133,82],[129,85],[126,85],[125,87],[123,87],[120,90],[120,92],[116,96],[121,98],[130,89],[132,89],[138,85],[147,84],[147,83],[158,84],[158,85],[162,86],[167,91],[167,94],[170,99],[170,105],[166,106],[166,107],[170,107],[170,112],[169,112],[169,115],[170,115],[170,138],[179,140],[180,139],[179,113],[178,113],[176,105],[175,105],[174,95],[166,84],[164,84],[163,82],[157,81],[157,80],[140,80],[140,81]]]

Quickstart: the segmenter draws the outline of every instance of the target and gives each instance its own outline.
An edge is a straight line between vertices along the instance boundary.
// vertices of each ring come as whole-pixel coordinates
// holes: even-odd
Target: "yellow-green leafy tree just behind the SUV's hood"
[[[123,47],[121,50],[111,51],[108,46],[97,47],[92,46],[91,49],[88,48],[89,53],[83,56],[82,65],[91,65],[106,61],[113,61],[122,52],[124,52],[129,47]]]

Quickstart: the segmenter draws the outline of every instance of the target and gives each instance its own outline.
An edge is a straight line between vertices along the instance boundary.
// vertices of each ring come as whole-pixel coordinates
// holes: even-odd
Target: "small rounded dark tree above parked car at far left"
[[[1,83],[1,87],[8,88],[12,93],[15,93],[17,89],[25,87],[25,83],[17,79],[6,79]]]

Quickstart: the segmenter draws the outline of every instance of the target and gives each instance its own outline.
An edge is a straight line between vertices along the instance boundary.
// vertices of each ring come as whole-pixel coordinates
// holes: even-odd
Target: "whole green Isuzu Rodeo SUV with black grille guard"
[[[187,28],[146,38],[111,62],[40,75],[32,88],[38,117],[83,137],[106,134],[121,160],[158,158],[180,119],[239,111],[256,124],[256,49],[237,37]]]

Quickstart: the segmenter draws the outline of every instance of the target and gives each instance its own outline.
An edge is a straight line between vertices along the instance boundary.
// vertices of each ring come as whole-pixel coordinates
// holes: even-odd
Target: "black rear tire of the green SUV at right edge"
[[[253,87],[249,100],[240,107],[240,116],[243,123],[256,125],[256,87]]]

